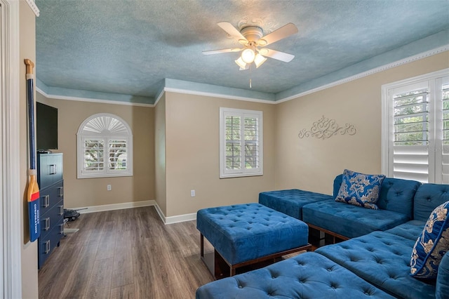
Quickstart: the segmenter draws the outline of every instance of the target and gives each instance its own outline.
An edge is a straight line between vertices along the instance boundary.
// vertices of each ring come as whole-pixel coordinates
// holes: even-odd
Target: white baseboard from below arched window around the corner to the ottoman
[[[82,206],[79,208],[70,208],[71,210],[79,210],[79,213],[95,213],[95,212],[103,212],[103,211],[112,211],[112,210],[121,210],[123,208],[139,208],[140,206],[154,206],[156,208],[156,212],[161,218],[163,224],[169,225],[177,222],[185,222],[190,220],[196,220],[196,213],[184,214],[184,215],[176,215],[166,217],[163,215],[163,212],[157,202],[155,200],[145,200],[145,201],[131,201],[124,202],[121,204],[104,204],[101,206]]]

